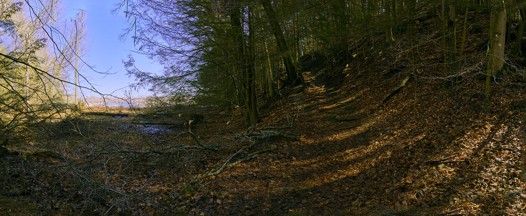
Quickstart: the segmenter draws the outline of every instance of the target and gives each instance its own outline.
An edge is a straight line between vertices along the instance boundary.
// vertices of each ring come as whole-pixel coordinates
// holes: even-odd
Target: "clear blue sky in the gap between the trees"
[[[86,22],[88,27],[88,53],[85,61],[94,66],[97,71],[108,71],[113,75],[100,75],[84,67],[81,73],[89,77],[99,92],[124,96],[124,90],[129,84],[135,83],[133,77],[128,78],[122,60],[127,60],[128,54],[132,54],[137,68],[143,71],[157,73],[163,69],[162,66],[145,56],[133,53],[135,50],[133,39],[127,38],[125,42],[119,40],[119,35],[124,33],[126,18],[124,15],[112,15],[110,12],[115,8],[119,0],[65,0],[64,18],[75,19],[80,9],[86,11]],[[71,75],[73,77],[73,75]],[[80,83],[86,85],[86,83]],[[84,92],[85,95],[89,93]],[[141,89],[133,91],[133,97],[147,96],[149,92]]]

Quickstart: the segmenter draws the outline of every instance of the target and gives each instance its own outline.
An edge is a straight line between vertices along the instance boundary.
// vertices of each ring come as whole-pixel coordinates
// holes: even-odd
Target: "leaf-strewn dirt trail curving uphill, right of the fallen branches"
[[[347,92],[316,85],[310,73],[305,78],[308,89],[288,93],[300,109],[290,132],[301,141],[279,141],[275,152],[221,174],[228,182],[225,213],[348,214],[362,202],[358,190],[378,187],[364,172],[381,150],[373,141],[379,133],[371,124],[374,115]],[[271,122],[280,115],[262,118]]]

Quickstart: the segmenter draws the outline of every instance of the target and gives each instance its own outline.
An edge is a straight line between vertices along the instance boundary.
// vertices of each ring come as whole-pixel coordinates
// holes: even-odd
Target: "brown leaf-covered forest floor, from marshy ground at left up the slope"
[[[484,102],[480,71],[422,73],[383,103],[408,72],[365,56],[306,59],[307,86],[249,130],[238,112],[176,108],[49,124],[6,146],[0,215],[526,215],[522,76]]]

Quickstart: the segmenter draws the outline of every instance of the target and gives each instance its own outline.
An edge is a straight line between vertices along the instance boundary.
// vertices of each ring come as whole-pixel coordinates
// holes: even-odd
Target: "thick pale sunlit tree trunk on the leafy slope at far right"
[[[497,76],[499,70],[504,65],[504,45],[506,39],[506,10],[504,2],[499,2],[497,7],[492,8],[492,19],[490,28],[490,48],[488,70],[486,71],[485,98],[490,99],[491,79]]]

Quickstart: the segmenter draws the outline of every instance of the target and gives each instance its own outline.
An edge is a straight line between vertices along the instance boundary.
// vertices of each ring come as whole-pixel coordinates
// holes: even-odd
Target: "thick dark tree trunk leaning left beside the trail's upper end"
[[[290,58],[289,48],[287,46],[287,42],[285,41],[283,30],[279,26],[278,20],[276,18],[276,12],[274,12],[274,8],[272,8],[270,0],[261,0],[260,2],[263,6],[263,9],[265,10],[265,13],[267,14],[267,18],[271,27],[271,32],[276,38],[278,51],[282,55],[283,64],[285,65],[285,70],[287,71],[287,82],[291,86],[298,85],[301,83],[301,77],[298,76],[296,67],[294,67],[292,59]]]

